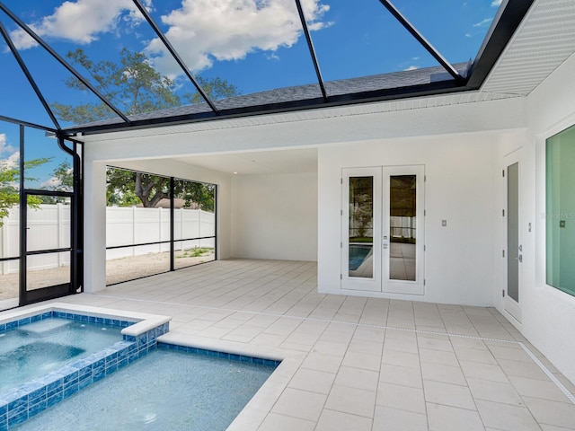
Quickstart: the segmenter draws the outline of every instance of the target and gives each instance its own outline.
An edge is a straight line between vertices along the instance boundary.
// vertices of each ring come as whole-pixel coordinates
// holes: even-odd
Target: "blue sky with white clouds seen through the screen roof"
[[[316,83],[293,0],[142,0],[194,74],[220,77],[246,94]],[[500,0],[393,0],[452,63],[473,59]],[[121,48],[192,92],[131,0],[4,0],[60,55],[83,48],[94,62]],[[302,0],[326,81],[437,66],[378,0]],[[49,102],[96,101],[63,84],[68,72],[18,29],[0,21]],[[0,115],[52,126],[13,55],[0,43]],[[66,125],[64,125],[66,126]],[[13,156],[13,128],[0,123],[0,159]],[[17,138],[16,138],[17,139]],[[40,145],[38,145],[40,147]]]

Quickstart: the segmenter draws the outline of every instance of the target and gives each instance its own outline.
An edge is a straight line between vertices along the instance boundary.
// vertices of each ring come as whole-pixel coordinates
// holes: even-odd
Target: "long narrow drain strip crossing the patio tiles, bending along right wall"
[[[531,359],[533,359],[535,364],[537,366],[539,366],[539,368],[541,368],[541,370],[544,372],[544,374],[546,374],[547,377],[549,377],[551,379],[551,381],[555,384],[555,386],[557,386],[557,388],[560,391],[562,391],[562,393],[573,404],[575,404],[575,396],[553,375],[553,373],[551,371],[549,371],[549,369],[537,358],[537,356],[535,356],[535,354],[528,347],[526,347],[526,345],[523,344],[521,341],[510,340],[510,339],[491,339],[491,338],[486,338],[486,337],[475,337],[473,335],[463,335],[463,334],[450,334],[448,332],[438,332],[438,331],[434,331],[434,330],[412,330],[411,328],[400,328],[400,327],[394,327],[394,326],[375,325],[375,324],[360,323],[360,322],[353,322],[353,321],[334,321],[332,319],[320,319],[320,318],[315,318],[315,317],[288,316],[285,314],[278,314],[278,313],[273,313],[273,312],[248,312],[248,311],[243,311],[243,310],[233,310],[233,309],[224,308],[224,307],[208,307],[206,305],[190,305],[190,304],[182,304],[182,303],[169,303],[169,302],[164,302],[164,301],[153,301],[153,300],[149,300],[149,299],[133,299],[133,298],[127,298],[127,297],[123,297],[123,296],[114,296],[114,295],[98,295],[98,296],[107,297],[107,298],[114,298],[114,299],[121,299],[121,300],[125,300],[125,301],[137,301],[137,302],[144,302],[144,303],[164,303],[167,305],[183,305],[185,307],[200,308],[200,309],[204,309],[204,310],[223,310],[226,312],[244,312],[244,313],[248,313],[248,314],[262,315],[262,316],[285,317],[288,319],[295,319],[298,321],[322,321],[322,322],[337,323],[337,324],[342,324],[342,325],[352,325],[352,326],[361,326],[361,327],[366,327],[366,328],[376,328],[376,329],[380,329],[380,330],[403,330],[406,332],[414,332],[416,334],[442,335],[442,336],[446,336],[446,337],[455,337],[455,338],[459,338],[459,339],[479,339],[482,341],[497,341],[500,343],[517,344],[519,347],[521,347],[521,348],[523,348],[523,350],[525,350],[526,354],[529,357],[531,357]]]

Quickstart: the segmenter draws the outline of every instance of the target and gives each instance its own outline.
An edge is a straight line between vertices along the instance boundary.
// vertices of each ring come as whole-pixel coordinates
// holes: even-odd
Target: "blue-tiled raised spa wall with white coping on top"
[[[0,394],[0,431],[21,424],[84,387],[102,380],[157,348],[158,337],[169,331],[168,316],[122,312],[85,305],[51,303],[3,313],[0,333],[33,321],[60,317],[122,328],[122,340],[56,371]]]

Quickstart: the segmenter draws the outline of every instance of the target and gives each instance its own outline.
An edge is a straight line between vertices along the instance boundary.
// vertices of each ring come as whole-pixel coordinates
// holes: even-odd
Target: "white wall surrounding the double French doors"
[[[491,305],[493,253],[499,238],[493,200],[496,137],[491,134],[411,137],[338,145],[319,151],[319,289]],[[341,169],[425,165],[425,295],[372,294],[341,289]],[[447,227],[441,221],[447,220]]]

